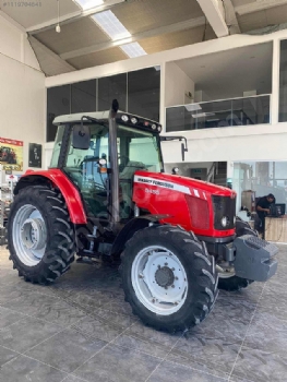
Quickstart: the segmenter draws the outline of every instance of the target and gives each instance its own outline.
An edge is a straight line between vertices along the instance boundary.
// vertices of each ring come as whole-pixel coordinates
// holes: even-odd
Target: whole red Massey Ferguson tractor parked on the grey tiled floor
[[[50,168],[21,177],[8,220],[10,259],[26,282],[56,280],[74,254],[121,260],[133,312],[174,332],[203,321],[218,287],[275,274],[277,248],[236,219],[235,191],[164,172],[160,140],[171,138],[157,122],[113,102],[55,123]]]

